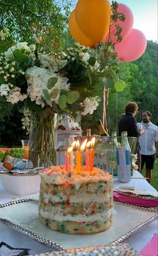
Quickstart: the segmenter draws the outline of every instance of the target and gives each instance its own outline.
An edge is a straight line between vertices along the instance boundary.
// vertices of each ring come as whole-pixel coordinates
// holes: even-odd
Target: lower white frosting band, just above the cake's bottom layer
[[[62,209],[61,209],[62,210]],[[100,220],[100,221],[105,221],[108,218],[110,218],[112,214],[112,208],[108,209],[107,211],[104,211],[102,213],[96,213],[92,214],[90,216],[86,216],[85,214],[78,214],[76,216],[72,216],[70,214],[64,216],[63,214],[60,213],[60,211],[56,214],[54,212],[45,212],[44,210],[40,210],[40,215],[44,218],[48,218],[49,220],[57,220],[57,221],[95,221],[95,220]]]

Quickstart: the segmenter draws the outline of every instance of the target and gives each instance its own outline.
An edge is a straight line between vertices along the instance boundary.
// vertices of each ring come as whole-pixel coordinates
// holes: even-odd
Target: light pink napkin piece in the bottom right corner
[[[153,238],[140,251],[142,256],[157,256],[158,255],[158,234],[153,235]]]

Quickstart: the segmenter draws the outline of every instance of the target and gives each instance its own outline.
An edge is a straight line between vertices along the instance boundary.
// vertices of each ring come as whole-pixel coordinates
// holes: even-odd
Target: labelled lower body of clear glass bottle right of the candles
[[[128,183],[131,181],[130,151],[127,147],[116,148],[117,177],[118,182]]]

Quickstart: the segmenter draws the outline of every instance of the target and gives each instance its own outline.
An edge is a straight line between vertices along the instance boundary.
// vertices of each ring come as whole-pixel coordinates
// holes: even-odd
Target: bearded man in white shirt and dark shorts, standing
[[[151,123],[150,111],[143,111],[141,113],[141,123],[137,123],[138,129],[144,129],[145,133],[139,137],[139,147],[141,154],[141,170],[146,166],[146,177],[151,182],[151,170],[155,162],[155,143],[158,148],[158,127]]]

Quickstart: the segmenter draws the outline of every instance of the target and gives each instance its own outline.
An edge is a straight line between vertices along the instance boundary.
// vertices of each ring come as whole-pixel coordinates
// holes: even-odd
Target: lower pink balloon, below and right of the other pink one
[[[123,62],[133,62],[143,55],[147,48],[145,35],[138,29],[133,28],[131,33],[120,44],[114,46],[118,60]]]

